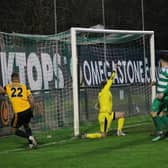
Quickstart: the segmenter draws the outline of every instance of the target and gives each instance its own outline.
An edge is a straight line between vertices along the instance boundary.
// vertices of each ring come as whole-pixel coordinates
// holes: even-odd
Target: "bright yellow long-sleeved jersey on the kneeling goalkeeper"
[[[112,113],[112,93],[110,91],[110,87],[115,78],[116,72],[114,71],[107,81],[106,85],[98,94],[98,102],[99,102],[99,112],[100,113]]]

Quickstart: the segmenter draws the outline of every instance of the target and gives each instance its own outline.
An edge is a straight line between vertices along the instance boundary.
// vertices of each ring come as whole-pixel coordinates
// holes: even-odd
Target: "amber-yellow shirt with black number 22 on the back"
[[[13,82],[5,86],[5,91],[12,104],[14,113],[23,112],[31,107],[28,100],[31,91],[27,89],[26,85]]]

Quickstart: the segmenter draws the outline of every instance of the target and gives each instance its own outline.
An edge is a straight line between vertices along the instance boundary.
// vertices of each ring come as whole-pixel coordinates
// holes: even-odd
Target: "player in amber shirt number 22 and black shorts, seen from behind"
[[[18,73],[13,73],[11,80],[12,82],[4,88],[0,87],[0,93],[8,95],[13,108],[12,132],[17,136],[27,138],[29,147],[33,148],[37,145],[29,126],[30,120],[33,117],[33,97],[26,85],[20,83]],[[24,127],[25,131],[19,129],[21,126]]]

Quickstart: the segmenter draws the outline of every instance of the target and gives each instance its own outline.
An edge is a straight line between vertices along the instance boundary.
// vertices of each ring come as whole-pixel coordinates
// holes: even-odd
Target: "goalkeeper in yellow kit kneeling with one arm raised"
[[[101,90],[98,94],[98,106],[99,106],[98,121],[100,125],[100,132],[83,134],[81,136],[82,138],[92,138],[92,139],[104,138],[107,135],[107,132],[111,126],[111,122],[115,118],[118,119],[117,136],[125,136],[125,133],[122,132],[124,125],[124,113],[112,111],[113,102],[110,87],[112,86],[115,75],[116,72],[113,71],[110,79],[102,82]]]

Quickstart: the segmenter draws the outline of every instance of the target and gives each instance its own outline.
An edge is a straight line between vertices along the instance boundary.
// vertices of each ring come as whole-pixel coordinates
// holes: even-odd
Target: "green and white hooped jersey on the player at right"
[[[161,68],[156,91],[157,93],[165,93],[166,89],[168,89],[168,67]]]

